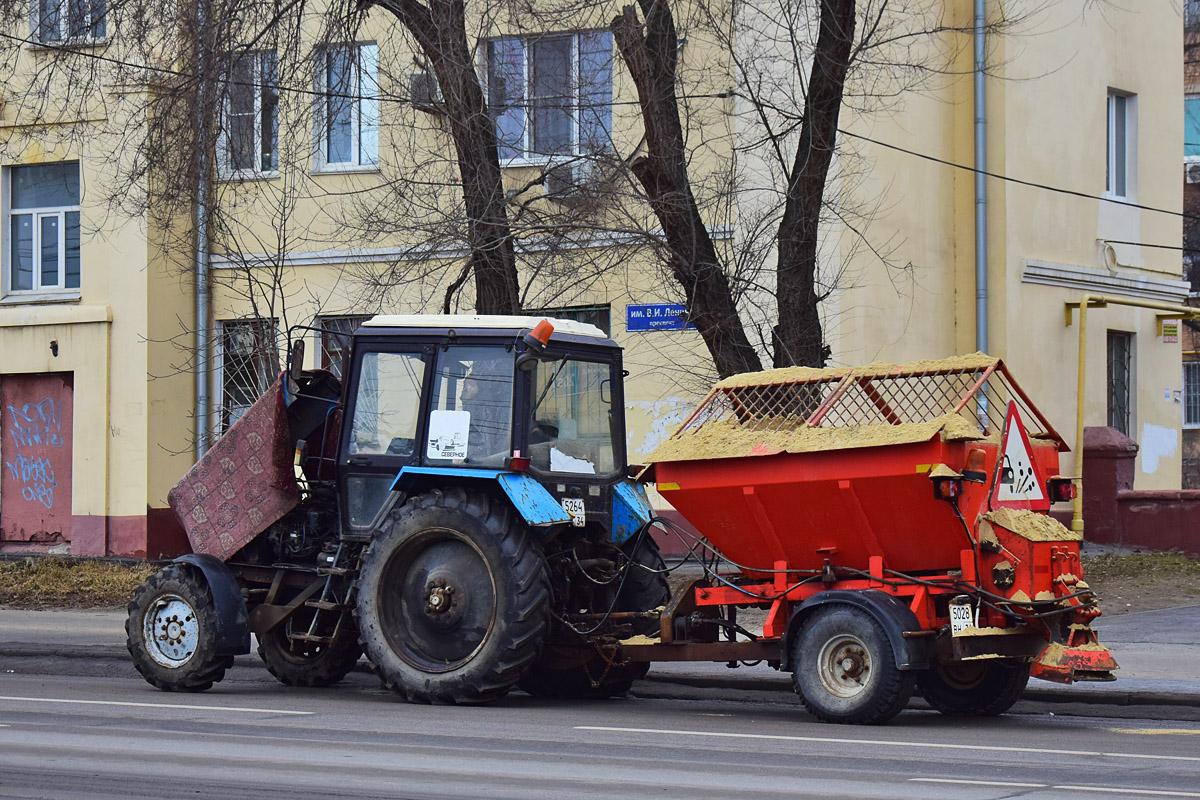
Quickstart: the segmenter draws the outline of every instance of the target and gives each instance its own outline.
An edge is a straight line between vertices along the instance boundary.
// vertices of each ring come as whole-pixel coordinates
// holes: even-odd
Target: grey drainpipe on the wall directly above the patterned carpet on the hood
[[[197,5],[197,37],[199,56],[197,61],[200,67],[200,85],[197,88],[199,98],[199,130],[197,142],[199,143],[199,169],[198,185],[196,190],[196,459],[208,452],[210,444],[211,420],[209,419],[209,363],[211,363],[211,339],[212,332],[209,326],[209,308],[211,301],[209,282],[209,114],[206,108],[208,98],[205,76],[208,70],[208,4],[202,1]]]

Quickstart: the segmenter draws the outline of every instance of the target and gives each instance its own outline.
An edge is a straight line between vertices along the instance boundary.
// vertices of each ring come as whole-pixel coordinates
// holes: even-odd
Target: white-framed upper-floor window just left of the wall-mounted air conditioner
[[[350,161],[329,161],[329,132],[326,108],[329,88],[329,56],[341,49],[354,48],[350,95],[355,98],[350,107]],[[313,108],[313,169],[319,173],[377,172],[379,169],[379,48],[374,42],[332,44],[317,53],[317,97]],[[366,155],[364,155],[366,154]]]

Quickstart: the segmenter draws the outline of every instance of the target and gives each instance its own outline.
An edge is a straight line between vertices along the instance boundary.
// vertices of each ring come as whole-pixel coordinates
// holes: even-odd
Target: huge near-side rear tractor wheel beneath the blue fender
[[[364,554],[358,621],[388,688],[416,703],[487,703],[541,648],[545,560],[508,504],[433,491],[392,511]]]

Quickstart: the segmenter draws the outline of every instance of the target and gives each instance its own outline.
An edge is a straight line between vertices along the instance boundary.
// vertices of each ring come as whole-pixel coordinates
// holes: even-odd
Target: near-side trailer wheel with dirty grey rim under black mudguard
[[[904,710],[916,676],[896,668],[887,632],[852,606],[817,608],[792,650],[792,685],[822,722],[877,724]]]

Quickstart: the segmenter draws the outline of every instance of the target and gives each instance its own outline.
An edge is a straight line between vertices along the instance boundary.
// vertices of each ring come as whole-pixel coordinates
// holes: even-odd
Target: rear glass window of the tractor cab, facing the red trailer
[[[607,475],[617,469],[612,368],[570,357],[536,366],[529,419],[534,469],[577,475]]]

